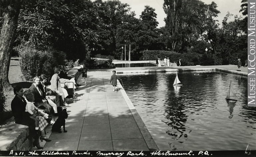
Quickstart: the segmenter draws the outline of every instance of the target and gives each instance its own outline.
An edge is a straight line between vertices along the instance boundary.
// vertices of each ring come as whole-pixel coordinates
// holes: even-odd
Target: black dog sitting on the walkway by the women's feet
[[[65,108],[60,112],[58,119],[53,124],[52,131],[61,133],[62,132],[61,126],[63,126],[64,132],[67,132],[67,130],[65,130],[65,122],[66,122],[65,119],[67,119],[67,118],[68,118],[68,113],[67,113],[67,109]]]

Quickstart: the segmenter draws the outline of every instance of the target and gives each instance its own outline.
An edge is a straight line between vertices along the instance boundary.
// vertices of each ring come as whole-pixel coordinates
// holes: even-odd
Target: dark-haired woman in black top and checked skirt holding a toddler
[[[20,86],[15,86],[13,88],[13,92],[15,94],[15,97],[12,100],[11,103],[11,109],[12,113],[15,119],[15,123],[21,124],[21,125],[27,125],[29,127],[29,135],[32,136],[35,141],[33,142],[33,147],[37,147],[37,149],[43,149],[43,147],[39,144],[39,136],[40,134],[37,133],[35,130],[35,123],[34,121],[29,118],[29,116],[25,115],[26,110],[26,100],[22,97],[24,95],[23,88]],[[48,125],[47,121],[44,117],[39,118],[39,131],[41,133],[41,141],[45,140],[47,142],[50,142],[51,140],[47,139],[45,134],[45,127]]]

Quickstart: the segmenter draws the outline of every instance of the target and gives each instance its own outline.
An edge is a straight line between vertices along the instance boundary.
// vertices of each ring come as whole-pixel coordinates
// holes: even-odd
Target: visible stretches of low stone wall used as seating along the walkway
[[[82,74],[81,67],[74,67],[68,71],[68,76],[74,75],[76,79]],[[29,151],[34,139],[29,136],[26,125],[16,124],[14,117],[0,125],[0,151]]]

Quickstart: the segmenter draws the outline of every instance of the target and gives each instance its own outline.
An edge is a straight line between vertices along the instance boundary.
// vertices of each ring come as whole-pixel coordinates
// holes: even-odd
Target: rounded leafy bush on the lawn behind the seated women
[[[50,76],[52,65],[65,65],[66,54],[52,48],[39,51],[30,47],[18,48],[21,72],[26,80],[45,74]]]

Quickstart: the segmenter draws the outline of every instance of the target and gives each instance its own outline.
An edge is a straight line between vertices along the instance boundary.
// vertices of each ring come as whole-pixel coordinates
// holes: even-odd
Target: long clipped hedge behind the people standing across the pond
[[[158,51],[158,50],[152,50],[152,51],[142,51],[140,53],[143,53],[143,60],[146,61],[152,61],[160,58],[160,60],[163,60],[164,57],[169,57],[170,62],[178,62],[179,59],[181,59],[181,65],[182,66],[196,66],[199,65],[199,60],[202,55],[197,53],[176,53],[172,51]]]

